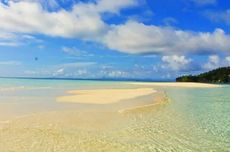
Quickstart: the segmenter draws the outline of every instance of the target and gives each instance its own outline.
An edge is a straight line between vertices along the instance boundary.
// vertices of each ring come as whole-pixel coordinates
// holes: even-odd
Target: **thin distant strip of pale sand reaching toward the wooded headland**
[[[193,82],[133,82],[133,85],[143,85],[152,87],[185,87],[185,88],[216,88],[220,85],[208,83],[193,83]]]

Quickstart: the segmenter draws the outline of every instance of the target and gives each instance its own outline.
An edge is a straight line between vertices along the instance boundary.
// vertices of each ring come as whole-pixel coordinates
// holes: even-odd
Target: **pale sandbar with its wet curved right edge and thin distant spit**
[[[116,89],[89,89],[89,90],[70,90],[66,95],[58,96],[58,103],[73,103],[85,105],[107,105],[107,109],[116,107],[119,113],[151,107],[166,100],[162,89],[166,87],[178,88],[218,88],[220,85],[204,83],[183,83],[183,82],[133,82],[125,83],[133,88],[116,88]],[[163,91],[164,92],[164,91]],[[141,97],[152,96],[148,100]],[[157,99],[155,99],[157,97]],[[136,100],[136,101],[135,101]],[[161,101],[159,101],[161,100]],[[135,103],[136,102],[136,103]],[[117,106],[119,105],[119,106]],[[100,108],[99,108],[100,109]],[[103,109],[103,108],[102,108]]]

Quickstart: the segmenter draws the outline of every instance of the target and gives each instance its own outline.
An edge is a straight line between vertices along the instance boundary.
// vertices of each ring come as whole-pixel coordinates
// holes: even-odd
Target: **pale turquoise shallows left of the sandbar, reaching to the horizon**
[[[84,109],[84,105],[57,103],[69,90],[122,88],[121,82],[0,78],[0,111],[8,116],[54,110]],[[94,106],[92,106],[94,108]],[[0,115],[1,119],[8,119]]]

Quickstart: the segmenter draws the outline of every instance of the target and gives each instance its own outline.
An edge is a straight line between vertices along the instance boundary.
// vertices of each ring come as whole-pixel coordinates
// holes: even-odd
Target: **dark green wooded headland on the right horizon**
[[[230,83],[230,67],[222,67],[199,75],[185,75],[177,82]]]

